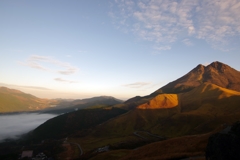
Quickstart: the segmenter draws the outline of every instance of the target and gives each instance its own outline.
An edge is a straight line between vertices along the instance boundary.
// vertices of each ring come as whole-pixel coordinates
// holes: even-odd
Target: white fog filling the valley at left
[[[38,113],[0,115],[0,141],[18,138],[55,116],[57,115]]]

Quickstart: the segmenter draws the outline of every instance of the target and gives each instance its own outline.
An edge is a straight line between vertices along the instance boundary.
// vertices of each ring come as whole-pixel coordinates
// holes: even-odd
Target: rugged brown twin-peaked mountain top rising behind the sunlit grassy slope
[[[220,87],[240,91],[240,72],[230,66],[213,62],[208,66],[199,64],[181,78],[168,83],[151,95],[159,93],[181,93],[190,91],[202,83],[209,82]]]

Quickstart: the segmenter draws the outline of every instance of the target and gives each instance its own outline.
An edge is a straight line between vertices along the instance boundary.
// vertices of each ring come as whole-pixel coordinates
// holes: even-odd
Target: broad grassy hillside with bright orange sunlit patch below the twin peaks
[[[105,145],[137,144],[141,139],[134,135],[136,131],[166,138],[204,134],[225,123],[232,124],[239,117],[239,92],[204,83],[190,92],[156,96],[95,127],[88,135],[72,138],[89,151]]]

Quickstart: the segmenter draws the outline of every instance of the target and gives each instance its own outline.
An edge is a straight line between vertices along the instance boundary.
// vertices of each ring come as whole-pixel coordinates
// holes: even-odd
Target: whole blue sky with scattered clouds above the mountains
[[[198,64],[240,70],[240,0],[1,0],[0,86],[145,96]]]

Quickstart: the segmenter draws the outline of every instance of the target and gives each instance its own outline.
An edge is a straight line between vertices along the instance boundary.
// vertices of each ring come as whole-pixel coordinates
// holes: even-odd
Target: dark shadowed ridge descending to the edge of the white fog
[[[54,117],[30,133],[31,139],[65,138],[125,113],[119,108],[84,109]]]

